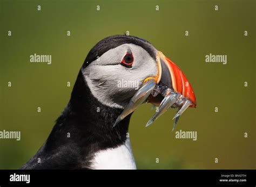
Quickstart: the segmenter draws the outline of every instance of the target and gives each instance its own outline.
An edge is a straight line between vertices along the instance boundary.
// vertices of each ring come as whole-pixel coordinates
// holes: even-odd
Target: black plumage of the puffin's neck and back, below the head
[[[97,152],[125,143],[131,115],[112,128],[121,112],[99,103],[79,73],[48,139],[21,169],[90,169]],[[38,164],[38,157],[44,162]]]

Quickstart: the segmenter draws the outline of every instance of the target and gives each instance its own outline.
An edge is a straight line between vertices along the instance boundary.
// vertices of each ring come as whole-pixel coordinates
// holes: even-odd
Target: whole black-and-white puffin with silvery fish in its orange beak
[[[143,103],[158,106],[146,126],[178,108],[174,128],[188,107],[196,107],[196,97],[179,67],[149,41],[131,35],[100,40],[50,135],[20,169],[136,169],[127,133]]]

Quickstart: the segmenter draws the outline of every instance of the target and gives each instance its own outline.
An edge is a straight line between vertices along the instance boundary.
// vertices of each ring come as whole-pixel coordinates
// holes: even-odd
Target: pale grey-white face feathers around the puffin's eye
[[[132,67],[121,64],[127,50],[133,55]],[[155,53],[157,54],[157,50]],[[82,69],[85,81],[100,103],[123,109],[147,77],[157,76],[157,62],[140,46],[123,44],[110,49]]]

